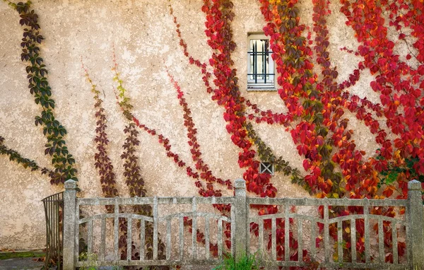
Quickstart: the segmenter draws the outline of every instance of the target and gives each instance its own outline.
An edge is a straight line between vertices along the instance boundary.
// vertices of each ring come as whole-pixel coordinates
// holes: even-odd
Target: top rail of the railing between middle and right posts
[[[295,206],[407,206],[406,199],[315,199],[315,198],[252,198],[248,204],[295,205]]]

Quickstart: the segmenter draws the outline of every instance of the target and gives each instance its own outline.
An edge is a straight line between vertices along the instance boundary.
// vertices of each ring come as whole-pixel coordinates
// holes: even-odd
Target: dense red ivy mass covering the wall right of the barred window
[[[389,24],[401,30],[413,29],[413,36],[419,37],[422,31],[416,31],[422,25],[423,4],[420,1],[341,1],[341,12],[346,15],[346,25],[355,30],[355,37],[360,46],[355,54],[363,57],[358,69],[349,80],[338,85],[336,67],[331,66],[329,57],[329,31],[326,17],[329,16],[328,1],[312,1],[314,4],[314,56],[321,74],[314,74],[312,48],[302,35],[305,25],[299,23],[297,1],[261,1],[261,12],[268,22],[264,31],[271,37],[273,59],[278,73],[278,90],[282,100],[289,108],[293,119],[299,124],[291,131],[293,141],[304,160],[304,168],[310,171],[303,184],[306,189],[318,197],[377,198],[392,196],[394,191],[398,198],[406,196],[407,181],[412,177],[422,179],[424,162],[422,151],[422,105],[423,69],[422,59],[417,67],[400,59],[394,52],[395,42],[404,41],[405,35],[399,33],[395,42],[387,37],[388,29],[384,25],[383,9],[391,11]],[[401,14],[408,13],[405,19]],[[394,19],[396,18],[396,19]],[[420,28],[419,28],[420,29]],[[421,30],[421,29],[420,29]],[[420,32],[421,34],[418,34]],[[413,43],[418,55],[422,51],[421,42]],[[411,54],[406,55],[406,60]],[[371,88],[380,93],[381,104],[374,104],[366,99],[351,95],[345,88],[354,85],[360,76],[360,70],[368,69],[375,75]],[[360,105],[358,105],[360,102]],[[370,132],[375,134],[379,148],[375,156],[363,160],[364,151],[356,149],[352,139],[353,130],[348,129],[348,119],[343,118],[345,110],[355,113]],[[380,127],[378,119],[386,119],[387,127]],[[394,135],[389,140],[388,134]],[[408,149],[408,150],[406,150]],[[340,168],[340,173],[334,173]],[[399,189],[396,189],[396,185]],[[363,209],[333,209],[334,216],[348,213],[362,213]],[[372,213],[394,216],[394,209],[389,207],[372,209]],[[347,228],[348,223],[343,227]],[[363,222],[358,228],[358,259],[363,259]],[[343,240],[350,237],[344,230]],[[330,228],[331,236],[336,240],[336,228]],[[384,225],[384,245],[391,247],[391,228]],[[351,256],[351,247],[344,247],[346,258]],[[404,254],[405,243],[398,243],[399,254]],[[335,254],[335,257],[337,254]],[[389,252],[387,262],[392,262]]]

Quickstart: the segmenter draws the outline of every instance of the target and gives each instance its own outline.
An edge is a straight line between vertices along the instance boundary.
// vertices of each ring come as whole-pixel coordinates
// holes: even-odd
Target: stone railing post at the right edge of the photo
[[[411,262],[413,270],[424,270],[424,218],[421,199],[421,183],[417,180],[408,182],[408,242],[411,245]]]

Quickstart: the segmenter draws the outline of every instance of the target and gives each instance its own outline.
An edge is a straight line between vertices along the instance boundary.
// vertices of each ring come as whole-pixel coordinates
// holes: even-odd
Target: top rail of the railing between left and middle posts
[[[158,204],[233,204],[234,197],[157,197]],[[137,205],[137,204],[153,204],[155,197],[131,197],[131,198],[78,198],[78,204],[83,205]]]

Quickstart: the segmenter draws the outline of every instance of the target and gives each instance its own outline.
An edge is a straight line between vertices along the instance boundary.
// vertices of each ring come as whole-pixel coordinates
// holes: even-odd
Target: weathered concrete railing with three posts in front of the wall
[[[231,210],[228,216],[217,214],[214,211],[200,211],[198,206],[204,204],[229,204]],[[128,205],[150,205],[153,207],[153,216],[124,213],[122,206]],[[167,211],[165,215],[160,214],[160,206],[166,206],[169,209],[172,206],[182,205],[189,205],[191,209],[189,211]],[[252,211],[251,205],[273,205],[278,206],[278,209],[282,209],[282,211],[272,215],[258,216]],[[80,217],[81,206],[114,206],[114,212],[98,213],[82,218]],[[314,213],[310,215],[295,213],[291,211],[293,206],[322,207],[323,218],[317,217]],[[331,218],[329,211],[334,206],[359,206],[363,209],[363,213]],[[397,215],[399,218],[391,218],[370,213],[370,209],[373,207],[387,206],[394,206],[398,209],[405,208],[406,214],[404,216]],[[192,218],[189,248],[186,248],[187,245],[184,242],[184,217]],[[106,230],[107,219],[110,220],[110,226],[113,227],[110,232]],[[126,222],[125,259],[119,256],[119,221]],[[132,225],[133,221],[136,222],[136,226]],[[211,229],[211,226],[215,226],[215,223],[211,223],[211,221],[216,221],[214,230]],[[364,224],[365,250],[363,254],[365,256],[358,260],[357,250],[353,248],[350,249],[351,259],[345,262],[343,260],[346,260],[346,256],[343,256],[342,244],[346,240],[346,235],[343,236],[343,230],[348,228],[351,246],[355,247],[357,242],[355,226],[358,221],[360,224]],[[293,253],[302,254],[304,250],[307,250],[310,261],[318,262],[319,267],[329,269],[342,267],[424,270],[423,202],[420,182],[416,180],[408,183],[408,199],[404,200],[251,198],[246,196],[244,180],[235,181],[235,196],[229,197],[80,199],[76,197],[76,182],[68,180],[65,182],[64,192],[64,269],[75,269],[75,267],[85,264],[79,260],[80,229],[83,224],[86,224],[84,230],[86,230],[87,252],[98,254],[96,261],[93,262],[96,266],[216,265],[222,262],[225,252],[223,222],[230,224],[231,233],[227,240],[230,240],[231,245],[228,252],[235,259],[240,259],[245,254],[256,253],[259,256],[259,262],[266,266],[304,266],[307,269],[308,264],[304,262],[302,256],[298,256],[297,260],[290,259]],[[271,230],[268,228],[270,223]],[[100,225],[98,226],[100,228],[95,228],[95,224]],[[252,236],[254,234],[250,233],[252,224],[257,224],[258,237],[254,237]],[[321,230],[318,228],[319,224],[322,226]],[[334,240],[331,240],[329,233],[331,224],[336,224],[332,227],[337,228],[339,245],[336,247],[334,247]],[[145,245],[146,225],[153,227],[153,247]],[[375,231],[372,230],[374,225],[378,228],[377,235],[372,235]],[[391,228],[391,239],[389,240],[391,249],[389,250],[384,247],[384,240],[387,239],[384,238],[383,225],[386,229]],[[164,229],[160,230],[160,226]],[[175,227],[178,228],[177,231],[172,230]],[[201,247],[202,252],[199,252],[200,245],[197,243],[198,229],[204,231],[205,245]],[[212,235],[212,231],[216,231],[216,233]],[[284,235],[281,235],[281,232]],[[293,234],[292,236],[290,236],[290,232]],[[401,257],[398,254],[397,246],[398,235],[403,233],[406,241],[406,256]],[[283,252],[277,250],[278,234],[280,239],[284,240]],[[106,248],[108,235],[112,235],[112,240],[109,242],[113,242],[113,246],[109,247],[109,250],[113,250],[110,254],[107,254]],[[317,235],[322,235],[322,245],[319,249],[314,245]],[[290,250],[290,238],[297,241],[297,250]],[[165,244],[162,259],[158,259],[159,239]],[[209,243],[211,241],[216,241],[218,245],[216,257],[210,254]],[[133,245],[136,245],[139,252],[137,259],[131,257]],[[266,245],[270,245],[271,248],[267,248]],[[149,258],[145,256],[147,248],[152,251]],[[336,260],[332,256],[335,252],[338,255]],[[386,252],[391,252],[393,263],[385,262]]]

